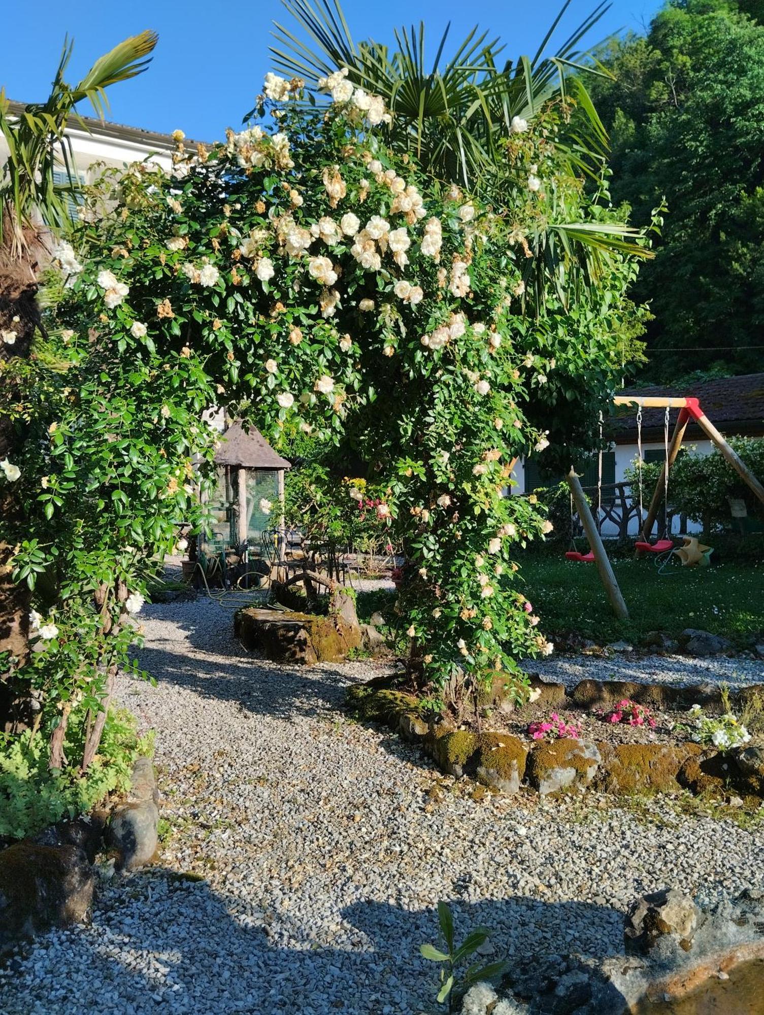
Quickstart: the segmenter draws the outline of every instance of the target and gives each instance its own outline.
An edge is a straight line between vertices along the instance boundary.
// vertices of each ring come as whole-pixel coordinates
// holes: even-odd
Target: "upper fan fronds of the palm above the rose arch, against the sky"
[[[310,0],[282,2],[313,46],[274,22],[278,45],[271,47],[271,54],[276,69],[303,78],[315,90],[319,78],[347,67],[349,80],[381,95],[394,114],[393,144],[416,154],[433,176],[480,192],[493,176],[497,143],[510,133],[512,119],[531,121],[547,101],[568,90],[582,113],[580,131],[568,138],[569,158],[587,173],[601,166],[607,134],[582,75],[606,72],[579,45],[610,4],[599,3],[553,56],[546,52],[570,0],[565,0],[532,58],[503,60],[500,41],[473,28],[443,63],[447,26],[428,69],[423,23],[419,29],[396,29],[397,50],[390,53],[371,40],[354,42],[339,0],[316,0],[315,7]]]

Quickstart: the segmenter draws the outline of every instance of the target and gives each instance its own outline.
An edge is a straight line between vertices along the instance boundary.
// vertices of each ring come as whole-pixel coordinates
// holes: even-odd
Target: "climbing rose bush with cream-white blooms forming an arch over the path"
[[[564,107],[512,134],[493,207],[395,155],[381,100],[342,71],[323,84],[310,108],[301,82],[271,75],[269,120],[210,148],[178,132],[171,174],[143,162],[107,179],[76,258],[59,259],[68,376],[19,463],[31,522],[16,561],[21,579],[65,574],[46,652],[54,667],[80,654],[83,681],[102,666],[101,648],[81,653],[104,636],[93,592],[118,577],[124,620],[145,562],[198,523],[214,450],[202,418],[218,406],[276,446],[304,433],[364,463],[405,554],[398,609],[425,681],[519,679],[517,658],[552,651],[512,561],[551,523],[508,495],[512,468],[620,377],[636,269],[610,253],[597,286],[539,290],[528,238],[614,213],[558,168]],[[101,523],[86,546],[83,491]],[[123,659],[134,635],[119,629]]]

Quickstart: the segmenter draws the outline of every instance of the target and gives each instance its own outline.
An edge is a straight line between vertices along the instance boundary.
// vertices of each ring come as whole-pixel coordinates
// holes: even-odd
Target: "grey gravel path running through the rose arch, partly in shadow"
[[[497,952],[603,955],[646,890],[764,888],[761,831],[664,804],[667,823],[639,823],[593,794],[475,801],[343,715],[369,665],[255,660],[205,600],[145,614],[157,684],[123,678],[119,695],[157,731],[173,834],[156,866],[105,883],[90,927],[0,971],[3,1015],[410,1015],[433,999],[419,945],[438,899],[459,936],[494,928]]]

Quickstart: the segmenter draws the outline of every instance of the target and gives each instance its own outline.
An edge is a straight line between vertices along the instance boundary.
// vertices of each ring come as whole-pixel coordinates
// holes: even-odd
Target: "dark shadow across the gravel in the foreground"
[[[331,932],[322,933],[307,913],[259,910],[254,899],[243,905],[163,868],[115,889],[98,924],[43,937],[28,963],[15,958],[0,970],[3,1015],[90,1015],[94,997],[99,1011],[115,1015],[442,1010],[433,1004],[438,965],[419,952],[425,942],[438,943],[434,907],[409,912],[389,902],[354,902],[337,918],[342,941],[332,947],[324,936]],[[620,951],[623,918],[608,906],[520,896],[448,901],[457,940],[479,926],[495,931],[495,953],[485,960],[508,958],[506,984],[520,995],[554,985],[573,948],[592,956]],[[610,952],[603,942],[614,946]],[[22,987],[29,974],[30,986]],[[619,1009],[585,1010],[615,1015]],[[570,1011],[536,999],[529,1015]]]

